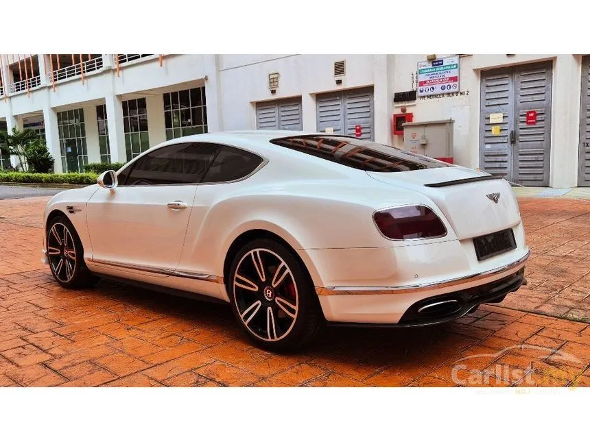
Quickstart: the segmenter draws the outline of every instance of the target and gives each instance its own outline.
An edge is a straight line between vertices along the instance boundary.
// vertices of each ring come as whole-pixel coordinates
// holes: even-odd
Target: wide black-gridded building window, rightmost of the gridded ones
[[[205,88],[177,90],[164,94],[166,139],[207,133]]]

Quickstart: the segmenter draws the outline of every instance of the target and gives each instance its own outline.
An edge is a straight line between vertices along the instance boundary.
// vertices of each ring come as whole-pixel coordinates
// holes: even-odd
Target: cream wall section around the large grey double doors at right
[[[449,54],[436,54],[443,58]],[[394,90],[410,90],[412,72],[426,60],[426,54],[394,56]],[[578,125],[580,112],[581,59],[571,55],[473,55],[460,58],[460,90],[466,95],[420,99],[415,103],[396,104],[414,114],[414,121],[453,119],[454,152],[458,164],[477,168],[480,165],[480,72],[515,64],[553,60],[552,127],[550,186],[573,187],[577,182]],[[468,94],[469,93],[469,94]],[[403,145],[394,136],[395,145]]]

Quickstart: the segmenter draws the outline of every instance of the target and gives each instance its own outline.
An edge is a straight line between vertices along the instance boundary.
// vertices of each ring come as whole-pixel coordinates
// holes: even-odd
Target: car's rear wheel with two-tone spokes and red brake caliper
[[[297,349],[316,337],[324,323],[311,278],[294,253],[269,239],[241,247],[226,287],[233,313],[258,347]]]

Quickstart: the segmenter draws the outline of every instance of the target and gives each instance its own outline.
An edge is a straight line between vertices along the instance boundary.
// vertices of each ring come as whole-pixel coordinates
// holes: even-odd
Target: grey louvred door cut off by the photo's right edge
[[[590,56],[582,57],[578,186],[590,186]]]

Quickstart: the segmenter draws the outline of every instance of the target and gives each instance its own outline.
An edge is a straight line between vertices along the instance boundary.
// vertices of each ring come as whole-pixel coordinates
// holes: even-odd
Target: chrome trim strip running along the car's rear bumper
[[[389,286],[389,287],[316,287],[316,292],[320,296],[331,296],[331,295],[397,295],[399,293],[419,293],[421,291],[431,291],[438,288],[445,288],[450,286],[456,286],[460,284],[467,284],[469,282],[475,282],[489,276],[499,275],[510,270],[519,270],[524,266],[526,260],[530,256],[530,250],[526,252],[526,255],[519,258],[515,262],[497,269],[484,271],[481,273],[475,273],[469,276],[463,276],[461,278],[453,278],[451,280],[445,280],[440,282],[430,282],[428,284],[414,284],[406,286]]]

